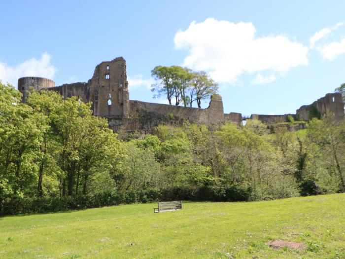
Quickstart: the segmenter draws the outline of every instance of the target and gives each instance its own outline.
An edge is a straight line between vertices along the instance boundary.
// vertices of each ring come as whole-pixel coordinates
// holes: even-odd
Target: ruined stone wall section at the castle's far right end
[[[301,106],[296,111],[297,116],[302,120],[309,120],[309,111],[312,106],[317,108],[322,116],[332,113],[337,121],[344,119],[344,102],[341,93],[326,94],[311,105]]]

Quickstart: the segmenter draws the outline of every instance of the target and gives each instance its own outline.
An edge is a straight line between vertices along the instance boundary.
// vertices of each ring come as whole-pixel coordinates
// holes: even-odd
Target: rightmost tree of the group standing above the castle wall
[[[196,101],[198,107],[201,108],[201,101],[215,94],[218,90],[218,84],[203,71],[193,72],[192,75],[191,88],[189,91],[190,107],[192,107],[193,102]]]

